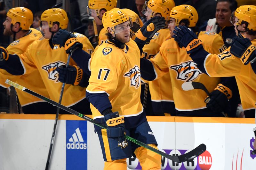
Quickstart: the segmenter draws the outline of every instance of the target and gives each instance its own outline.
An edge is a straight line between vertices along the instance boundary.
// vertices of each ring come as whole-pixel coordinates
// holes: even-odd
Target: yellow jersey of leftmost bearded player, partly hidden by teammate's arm
[[[21,37],[18,40],[13,41],[6,49],[9,54],[22,54],[24,53],[28,46],[39,39],[43,39],[42,33],[34,28],[30,28],[29,32],[26,36]],[[35,81],[36,78],[36,81]],[[4,88],[9,87],[10,85],[5,84],[5,80],[10,79],[20,85],[26,86],[26,88],[37,92],[47,98],[49,98],[49,94],[45,88],[43,80],[40,78],[40,74],[38,70],[31,72],[28,75],[22,76],[14,76],[7,71],[0,69],[0,85]],[[16,90],[21,107],[36,103],[36,102],[44,102],[31,94],[24,93],[21,90]]]

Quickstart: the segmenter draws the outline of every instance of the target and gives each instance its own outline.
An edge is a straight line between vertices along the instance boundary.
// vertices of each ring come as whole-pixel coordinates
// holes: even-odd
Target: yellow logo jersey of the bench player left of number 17
[[[80,42],[88,42],[83,44],[83,49],[86,52],[93,50],[91,43],[84,35],[75,33]],[[34,41],[27,49],[27,51],[19,55],[24,67],[24,75],[31,74],[38,70],[44,85],[49,93],[50,99],[58,102],[62,83],[58,81],[58,72],[56,68],[61,65],[66,65],[68,55],[64,47],[55,45],[53,48],[49,45],[49,39]],[[70,58],[69,65],[77,65],[72,58]],[[31,78],[30,81],[37,81],[37,77]],[[66,84],[64,88],[63,98],[61,104],[70,107],[85,98],[85,89],[81,86]]]

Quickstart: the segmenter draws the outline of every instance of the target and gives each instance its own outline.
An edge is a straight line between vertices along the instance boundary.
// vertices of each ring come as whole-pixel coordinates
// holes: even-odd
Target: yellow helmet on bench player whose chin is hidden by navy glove
[[[189,20],[189,27],[196,26],[198,14],[196,9],[190,5],[179,5],[172,8],[170,17],[176,19],[175,25],[178,26],[182,19]]]

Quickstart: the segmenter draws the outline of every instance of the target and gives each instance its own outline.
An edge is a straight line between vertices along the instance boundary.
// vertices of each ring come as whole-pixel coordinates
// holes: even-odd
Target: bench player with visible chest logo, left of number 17
[[[27,75],[38,70],[50,98],[58,102],[62,86],[62,83],[58,79],[62,77],[58,74],[57,69],[59,69],[60,66],[66,65],[68,54],[71,52],[72,54],[76,54],[76,52],[80,52],[82,47],[84,47],[85,51],[89,52],[93,50],[93,48],[90,41],[80,34],[70,39],[69,41],[71,43],[65,43],[65,47],[52,43],[53,35],[56,34],[59,29],[66,29],[68,26],[68,17],[64,10],[54,8],[44,11],[41,15],[41,22],[45,39],[34,41],[28,47],[27,51],[21,55],[8,54],[7,50],[5,51],[4,48],[1,48],[1,50],[5,51],[6,55],[8,54],[8,57],[4,57],[4,59],[1,60],[0,67],[13,75]],[[85,42],[88,43],[82,45],[80,42],[83,42],[84,39],[87,39],[88,41]],[[87,57],[89,62],[90,55],[85,51],[83,51],[86,54],[84,56]],[[76,58],[72,58],[71,55],[67,68],[72,67],[73,71],[77,72],[77,76],[74,79],[74,85],[65,85],[61,104],[80,113],[90,114],[89,102],[85,99],[85,88],[80,86],[81,83],[83,83],[81,79],[83,76],[86,76],[86,72],[83,72],[82,69],[77,67],[74,60],[76,60]],[[64,76],[64,78],[67,77]],[[31,79],[31,81],[35,80],[36,78],[34,78],[34,80]],[[60,111],[60,113],[66,112]]]

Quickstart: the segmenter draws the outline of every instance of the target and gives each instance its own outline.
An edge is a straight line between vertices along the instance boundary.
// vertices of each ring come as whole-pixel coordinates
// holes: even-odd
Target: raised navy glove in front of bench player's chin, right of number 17
[[[203,48],[202,41],[197,38],[197,35],[190,28],[176,26],[173,33],[175,34],[173,35],[174,40],[179,43],[181,48],[185,47],[188,54]]]

